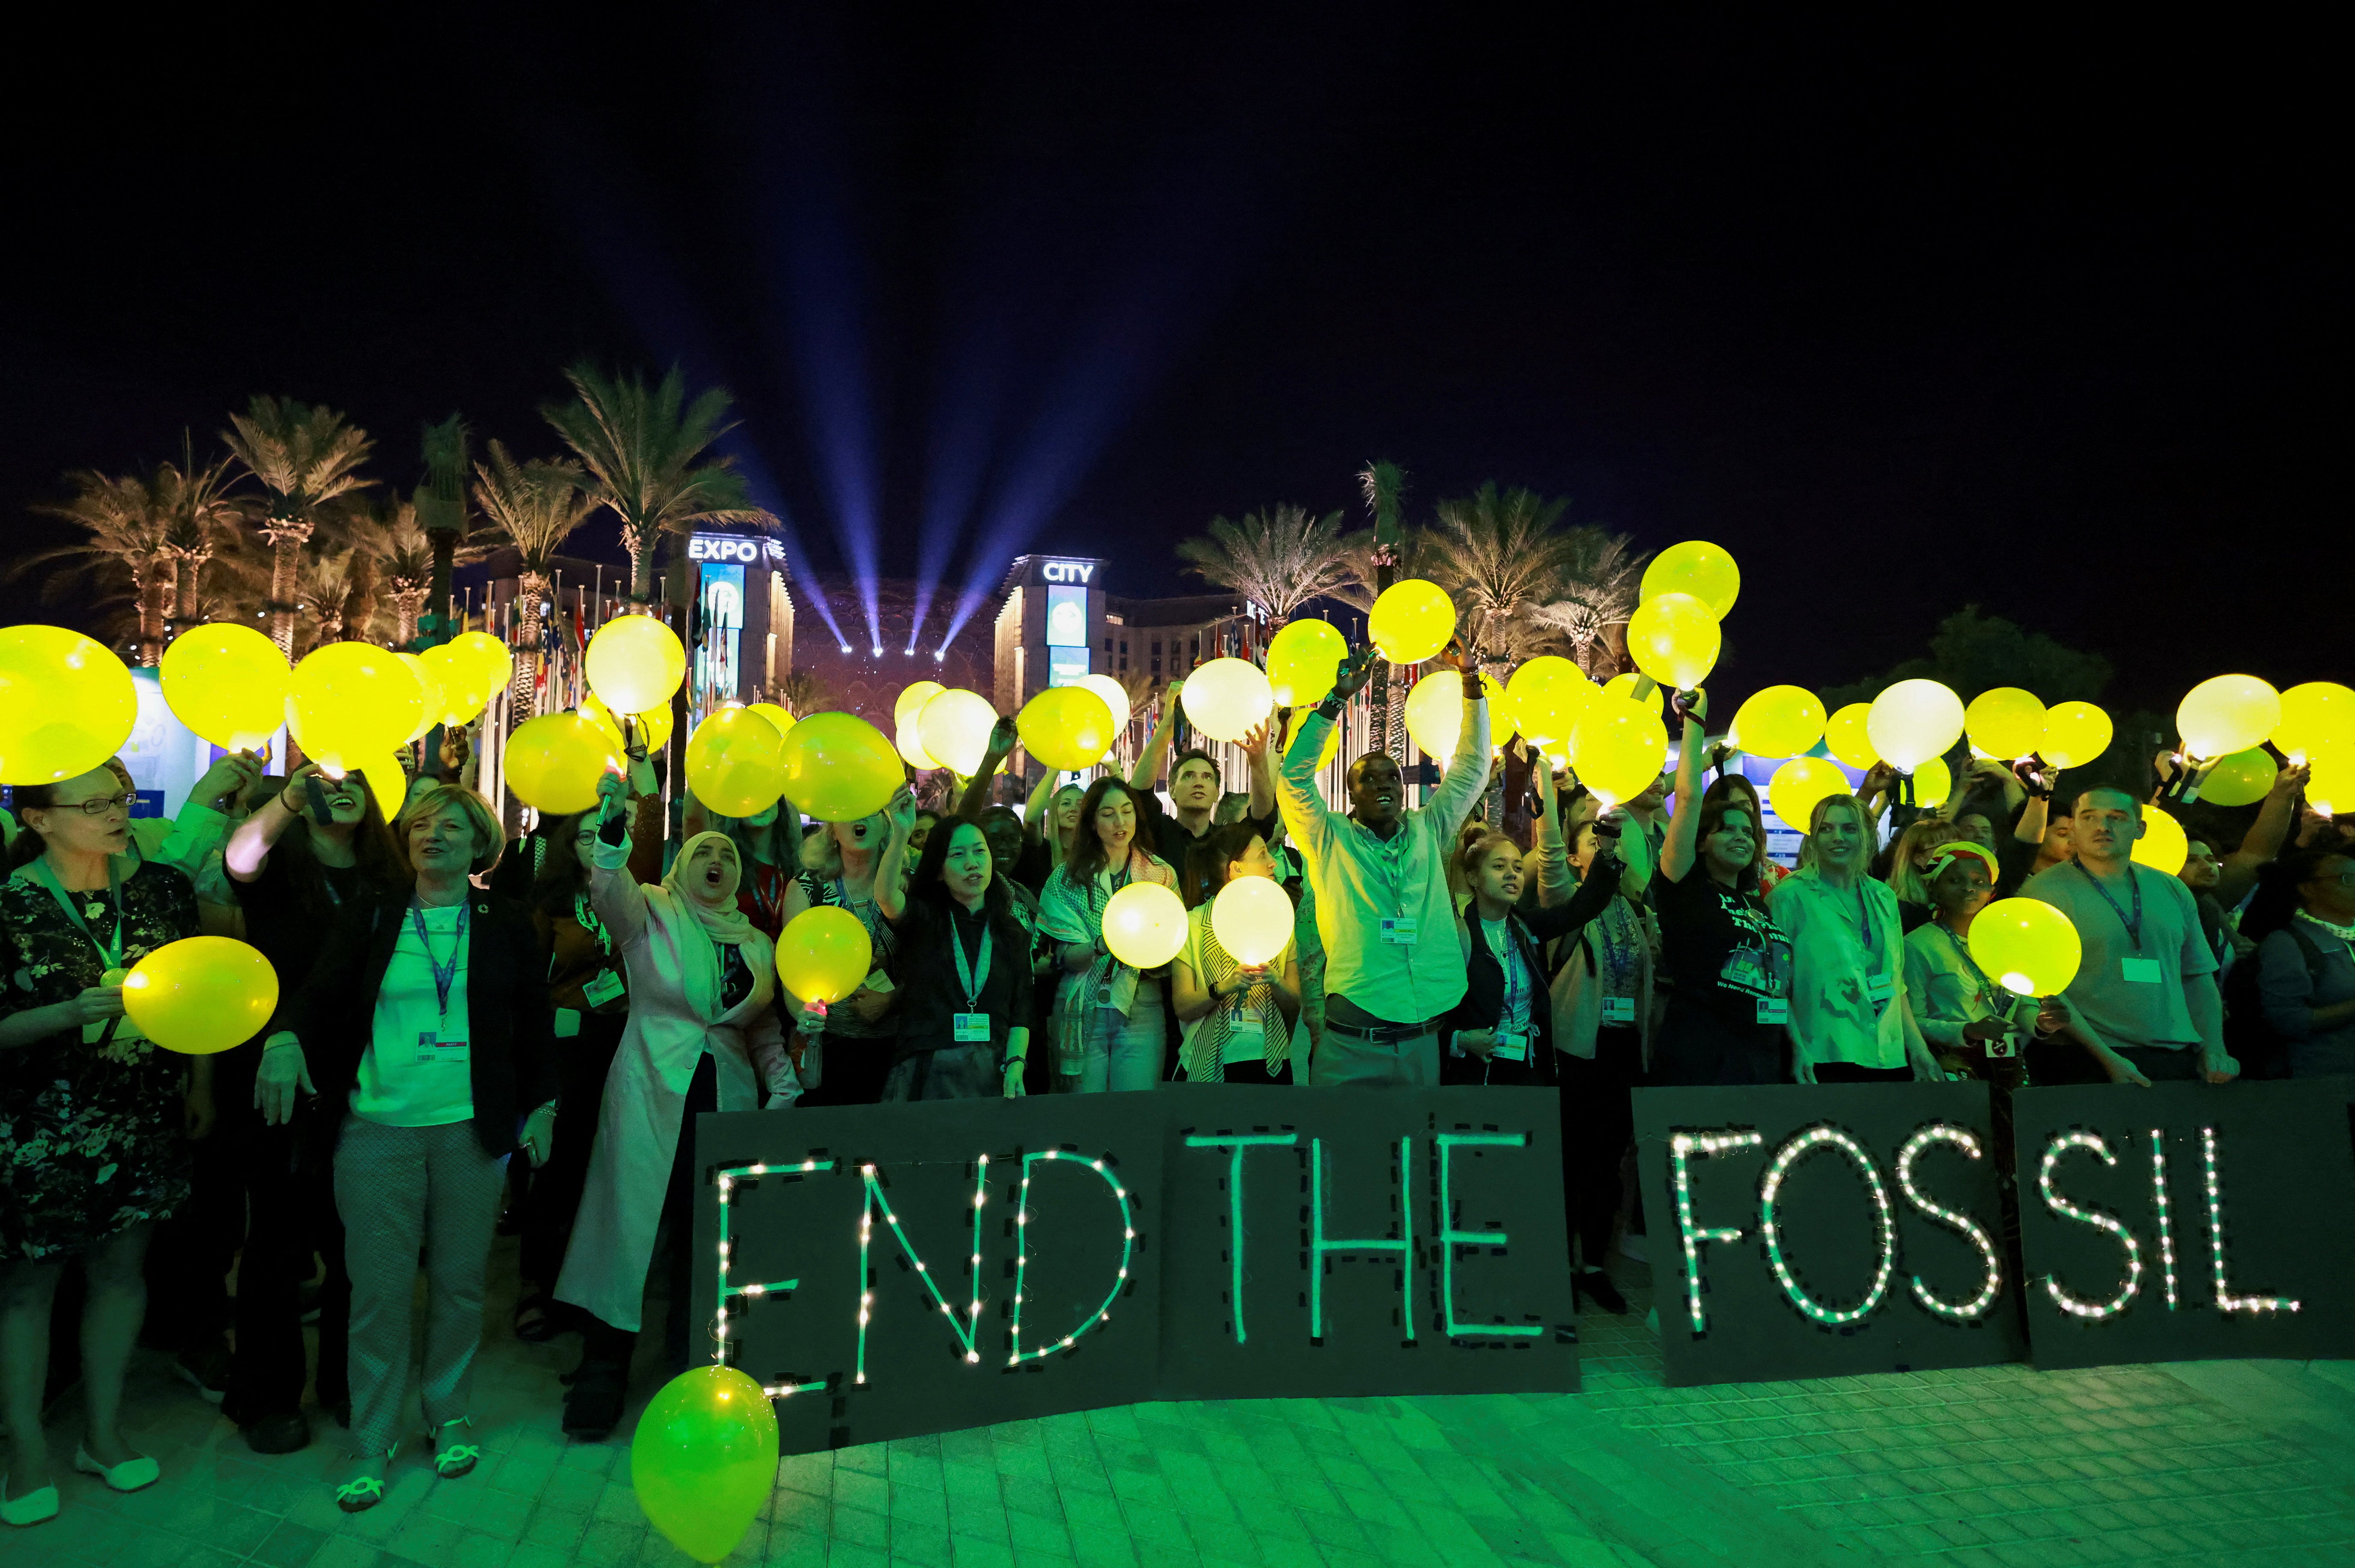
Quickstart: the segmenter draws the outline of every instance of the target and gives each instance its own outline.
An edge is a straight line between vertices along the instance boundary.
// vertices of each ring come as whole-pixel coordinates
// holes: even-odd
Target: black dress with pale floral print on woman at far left
[[[106,937],[113,911],[89,925]],[[195,930],[195,888],[184,873],[148,862],[122,883],[125,965]],[[0,1015],[73,1001],[106,972],[99,949],[26,871],[0,885]],[[0,1050],[5,1257],[61,1257],[186,1201],[186,1067],[148,1041],[82,1045],[78,1029]]]

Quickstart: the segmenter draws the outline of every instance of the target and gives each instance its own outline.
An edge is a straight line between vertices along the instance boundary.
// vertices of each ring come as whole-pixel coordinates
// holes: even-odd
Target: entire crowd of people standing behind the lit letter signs
[[[1444,659],[1477,666],[1460,647]],[[1335,810],[1316,763],[1371,671],[1371,650],[1352,655],[1291,744],[1291,716],[1253,730],[1248,791],[1227,793],[1203,751],[1170,756],[1166,702],[1126,777],[1048,777],[1022,812],[989,800],[1010,723],[963,798],[923,810],[902,791],[810,826],[791,803],[721,817],[683,796],[671,831],[633,756],[593,810],[506,841],[464,746],[400,803],[311,765],[264,777],[250,756],[221,758],[170,824],[132,822],[118,763],[16,789],[0,1519],[59,1504],[42,1410],[68,1262],[87,1403],[73,1464],[118,1490],[158,1476],[120,1429],[151,1278],[172,1293],[174,1366],[254,1450],[311,1443],[313,1387],[349,1434],[344,1509],[384,1497],[412,1387],[433,1471],[469,1474],[502,1215],[520,1234],[513,1333],[579,1335],[560,1422],[605,1439],[650,1285],[669,1304],[664,1363],[699,1351],[697,1111],[1554,1085],[1573,1281],[1625,1311],[1606,1262],[1641,1229],[1623,1189],[1637,1085],[1969,1076],[2004,1104],[2025,1083],[2355,1071],[2355,843],[2298,812],[2298,768],[2254,822],[2193,815],[2181,876],[2131,859],[2141,789],[2070,779],[2056,796],[2002,763],[1966,768],[1938,810],[1875,770],[1816,805],[1785,869],[1757,789],[1710,751],[1703,692],[1665,697],[1679,746],[1658,789],[1604,803],[1524,746],[1510,777],[1528,796],[1493,810],[1488,704],[1465,680],[1425,803],[1375,751]],[[1210,921],[1236,878],[1293,904],[1293,942],[1267,963],[1239,963]],[[1159,970],[1104,939],[1107,902],[1135,881],[1189,909]],[[1971,958],[1973,918],[2011,895],[2077,925],[2063,994],[2014,998]],[[829,1003],[789,994],[775,963],[820,904],[871,939],[864,984]],[[247,1045],[191,1059],[137,1036],[120,979],[200,932],[257,946],[280,1001]]]

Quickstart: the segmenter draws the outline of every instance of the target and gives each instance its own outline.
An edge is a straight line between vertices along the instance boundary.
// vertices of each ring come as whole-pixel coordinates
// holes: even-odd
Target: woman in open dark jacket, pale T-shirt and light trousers
[[[360,885],[339,904],[257,1074],[271,1123],[316,1085],[334,1147],[351,1274],[353,1467],[334,1493],[346,1514],[384,1502],[419,1253],[433,1471],[457,1479],[483,1457],[466,1441],[469,1396],[506,1158],[520,1144],[542,1165],[556,1140],[539,932],[520,904],[473,888],[506,848],[499,819],[473,791],[438,784],[400,812],[393,841],[414,881]]]

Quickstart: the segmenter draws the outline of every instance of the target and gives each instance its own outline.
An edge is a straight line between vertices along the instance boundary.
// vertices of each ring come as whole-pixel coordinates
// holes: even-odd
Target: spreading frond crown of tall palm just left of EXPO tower
[[[643,377],[605,374],[579,363],[565,370],[572,403],[551,403],[546,414],[565,445],[589,469],[589,492],[622,518],[629,551],[629,596],[655,598],[655,542],[695,532],[697,523],[744,523],[777,527],[777,518],[754,504],[732,457],[704,459],[725,436],[728,393],[711,388],[685,396],[678,367],[648,386]]]

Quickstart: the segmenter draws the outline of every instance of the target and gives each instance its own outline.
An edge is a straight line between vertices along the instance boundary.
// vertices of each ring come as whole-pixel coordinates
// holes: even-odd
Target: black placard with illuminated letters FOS
[[[1637,1090],[1634,1121],[1670,1384],[1990,1366],[2023,1354],[1983,1083]],[[1698,1269],[1686,1262],[1686,1227]],[[1948,1311],[1924,1304],[1924,1293]]]

